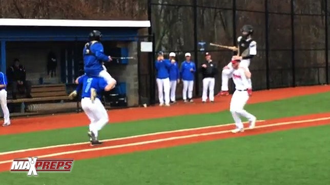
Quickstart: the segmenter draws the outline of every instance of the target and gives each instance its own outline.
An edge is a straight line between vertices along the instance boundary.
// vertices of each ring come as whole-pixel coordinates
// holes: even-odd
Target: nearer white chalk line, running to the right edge
[[[330,117],[310,119],[310,120],[291,121],[291,122],[281,122],[281,123],[274,123],[274,124],[269,124],[269,125],[260,125],[260,126],[256,126],[254,129],[281,126],[281,125],[290,125],[290,124],[296,124],[296,123],[308,123],[308,122],[324,121],[324,120],[330,120]],[[250,130],[250,129],[247,128],[245,130]],[[90,151],[108,150],[108,149],[123,148],[123,147],[130,147],[130,146],[139,146],[139,145],[160,143],[160,142],[179,140],[179,139],[185,139],[185,138],[191,138],[191,137],[223,134],[223,133],[229,133],[229,132],[231,132],[231,130],[223,130],[223,131],[217,131],[217,132],[207,132],[207,133],[200,133],[200,134],[190,134],[190,135],[168,137],[168,138],[162,138],[162,139],[158,139],[158,140],[151,140],[151,141],[145,141],[145,142],[136,142],[136,143],[122,144],[122,145],[115,145],[115,146],[81,149],[81,150],[74,150],[74,151],[67,151],[67,152],[58,152],[58,153],[52,153],[52,154],[47,154],[47,155],[40,155],[40,156],[37,156],[37,157],[45,158],[45,157],[54,157],[54,156],[59,156],[59,155],[80,153],[80,152],[90,152]],[[11,163],[12,161],[13,160],[0,161],[0,165],[1,164],[6,164],[6,163]]]

